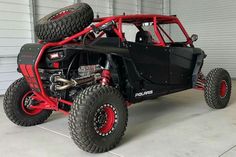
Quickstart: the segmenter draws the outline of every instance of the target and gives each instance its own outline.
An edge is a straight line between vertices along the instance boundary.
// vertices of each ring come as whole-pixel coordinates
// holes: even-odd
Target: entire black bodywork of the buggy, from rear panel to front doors
[[[18,55],[18,65],[33,67],[42,46],[24,45]],[[48,58],[48,55],[57,52],[62,54],[61,58]],[[139,102],[192,88],[205,57],[198,48],[159,47],[120,42],[119,38],[112,37],[86,45],[67,44],[49,48],[42,56],[39,68],[53,69],[52,64],[59,62],[59,69],[64,70],[65,77],[70,79],[70,70],[77,71],[81,65],[100,64],[105,67],[106,60],[110,58],[113,85],[118,85],[126,100]]]

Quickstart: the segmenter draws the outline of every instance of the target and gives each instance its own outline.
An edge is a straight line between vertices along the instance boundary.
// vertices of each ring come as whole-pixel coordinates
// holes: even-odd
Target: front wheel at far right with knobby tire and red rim
[[[231,95],[231,77],[222,68],[216,68],[209,72],[205,83],[205,100],[213,109],[225,108]]]

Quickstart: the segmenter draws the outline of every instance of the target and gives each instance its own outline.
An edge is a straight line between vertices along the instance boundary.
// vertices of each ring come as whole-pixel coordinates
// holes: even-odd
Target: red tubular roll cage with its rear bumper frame
[[[68,37],[68,38],[66,38],[62,41],[44,43],[42,49],[39,52],[38,58],[36,59],[36,61],[34,63],[34,66],[25,65],[25,66],[28,66],[30,69],[32,69],[35,72],[35,76],[34,76],[33,73],[30,73],[29,77],[34,78],[35,80],[37,80],[37,82],[38,82],[37,86],[40,89],[39,92],[33,91],[33,93],[35,94],[34,99],[40,100],[41,103],[38,106],[32,106],[32,108],[50,109],[50,110],[55,110],[55,111],[61,111],[65,114],[68,114],[68,112],[60,110],[58,108],[58,103],[61,102],[61,103],[64,103],[64,104],[67,104],[67,105],[71,106],[72,102],[69,102],[69,101],[63,100],[63,99],[49,97],[47,95],[47,93],[45,92],[45,89],[43,87],[43,83],[40,79],[40,74],[39,74],[39,71],[38,71],[38,65],[39,65],[39,62],[40,62],[43,54],[45,53],[45,51],[48,48],[54,47],[54,46],[62,46],[62,45],[68,44],[68,43],[74,43],[74,39],[82,37],[83,35],[91,32],[91,31],[94,31],[95,28],[99,29],[100,27],[102,27],[102,26],[104,26],[104,25],[106,25],[110,22],[113,22],[113,23],[116,24],[116,26],[112,27],[112,29],[117,34],[117,36],[122,41],[124,41],[125,37],[124,37],[123,32],[122,32],[122,23],[132,23],[132,24],[138,25],[138,24],[142,24],[144,22],[153,22],[155,34],[159,39],[158,46],[165,47],[166,43],[164,42],[164,39],[163,39],[163,37],[160,33],[161,28],[159,30],[157,24],[176,23],[180,27],[180,29],[182,30],[183,34],[185,35],[185,37],[187,39],[187,44],[190,44],[190,45],[192,44],[191,38],[189,37],[188,33],[186,32],[186,30],[184,29],[183,25],[180,23],[178,18],[175,17],[175,16],[165,16],[165,15],[156,15],[156,14],[121,15],[121,16],[111,16],[111,17],[97,18],[97,19],[94,19],[93,22],[94,22],[94,25],[91,25],[91,26],[85,28],[83,31],[78,32],[77,34],[72,35],[72,36],[70,36],[70,37]],[[161,30],[161,31],[163,31],[163,30]],[[165,31],[164,31],[164,33],[165,33]],[[104,34],[104,32],[101,31],[100,34],[98,35],[98,37],[101,37],[103,34]],[[167,37],[170,38],[168,35],[167,35]]]

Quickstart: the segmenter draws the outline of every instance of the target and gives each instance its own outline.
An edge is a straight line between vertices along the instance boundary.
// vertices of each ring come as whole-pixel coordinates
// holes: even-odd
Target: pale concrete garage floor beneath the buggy
[[[0,156],[4,157],[234,157],[236,156],[236,82],[227,108],[207,107],[203,93],[188,90],[135,104],[121,144],[89,154],[69,137],[67,117],[53,114],[35,127],[19,127],[3,113],[0,98]]]

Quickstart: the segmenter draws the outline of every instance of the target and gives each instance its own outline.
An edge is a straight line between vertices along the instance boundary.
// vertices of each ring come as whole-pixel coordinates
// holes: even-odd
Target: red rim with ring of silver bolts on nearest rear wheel
[[[95,114],[95,131],[101,136],[109,135],[114,130],[116,122],[116,109],[110,104],[104,104],[97,110]]]

